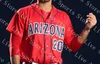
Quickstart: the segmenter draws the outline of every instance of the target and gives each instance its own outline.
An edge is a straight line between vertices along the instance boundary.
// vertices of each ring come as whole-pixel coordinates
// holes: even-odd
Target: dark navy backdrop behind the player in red
[[[61,0],[67,9],[72,9],[72,11],[59,5],[59,2],[60,0],[53,0],[55,7],[65,11],[70,16],[74,30],[78,34],[85,26],[82,20],[86,19],[86,15],[89,12],[93,12],[97,16],[98,21],[97,25],[91,30],[86,44],[76,53],[69,52],[69,50],[64,47],[62,54],[64,64],[100,64],[100,0]],[[92,8],[86,5],[87,2],[88,5],[92,5]],[[0,64],[10,64],[8,49],[9,33],[6,31],[6,27],[15,13],[15,10],[11,10],[9,6],[18,10],[21,7],[30,5],[30,3],[31,0],[0,0]],[[97,13],[93,8],[98,9],[99,12]],[[77,15],[80,15],[80,17],[77,18]],[[83,62],[84,59],[86,62]]]

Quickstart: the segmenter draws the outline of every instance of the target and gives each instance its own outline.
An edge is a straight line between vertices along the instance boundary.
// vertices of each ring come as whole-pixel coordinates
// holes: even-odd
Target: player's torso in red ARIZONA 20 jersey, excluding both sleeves
[[[62,62],[64,13],[55,7],[51,12],[44,13],[36,4],[23,8],[23,11],[25,29],[21,44],[22,61],[40,64]]]

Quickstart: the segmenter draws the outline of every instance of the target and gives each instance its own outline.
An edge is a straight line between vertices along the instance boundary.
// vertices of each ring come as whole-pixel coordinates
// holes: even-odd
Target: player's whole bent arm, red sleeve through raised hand
[[[66,46],[68,46],[68,48],[72,51],[72,52],[76,52],[81,46],[82,44],[85,42],[91,28],[96,25],[97,21],[96,21],[96,17],[90,13],[89,15],[87,15],[87,23],[85,28],[83,29],[83,31],[81,32],[81,34],[79,34],[78,36],[76,36],[76,33],[74,32],[74,29],[72,27],[71,24],[71,20],[69,18],[68,15],[66,15],[65,18],[65,37],[64,37],[64,42],[66,44]]]

